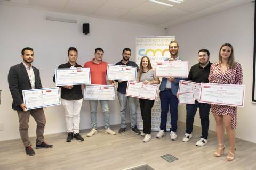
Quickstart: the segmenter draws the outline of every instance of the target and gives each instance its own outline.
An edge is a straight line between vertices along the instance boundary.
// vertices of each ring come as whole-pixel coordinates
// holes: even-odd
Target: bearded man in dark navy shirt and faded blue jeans
[[[124,48],[122,53],[123,59],[116,63],[116,65],[124,65],[124,66],[132,66],[137,67],[137,72],[139,71],[139,67],[135,62],[129,61],[131,56],[131,49]],[[131,127],[132,132],[136,134],[140,134],[140,131],[137,128],[137,114],[136,114],[136,98],[125,96],[127,88],[127,81],[118,81],[118,88],[117,88],[117,96],[120,103],[121,111],[121,128],[119,129],[118,133],[124,133],[127,129],[126,125],[126,106],[127,101],[130,109],[130,118],[131,118]]]

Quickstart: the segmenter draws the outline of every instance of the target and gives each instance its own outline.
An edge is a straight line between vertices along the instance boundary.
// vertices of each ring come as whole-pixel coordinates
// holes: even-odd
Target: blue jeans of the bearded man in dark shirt
[[[117,92],[118,100],[120,103],[120,115],[121,115],[121,128],[126,128],[126,106],[128,101],[128,106],[130,109],[131,127],[137,126],[137,114],[136,114],[136,98],[125,96]]]

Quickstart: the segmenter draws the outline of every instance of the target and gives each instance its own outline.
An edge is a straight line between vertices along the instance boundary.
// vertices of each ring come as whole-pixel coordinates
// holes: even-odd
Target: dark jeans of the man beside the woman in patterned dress
[[[209,129],[209,111],[211,108],[211,106],[207,103],[199,103],[198,101],[195,101],[195,104],[187,104],[186,133],[191,134],[193,131],[194,117],[198,107],[202,127],[201,138],[207,139]]]

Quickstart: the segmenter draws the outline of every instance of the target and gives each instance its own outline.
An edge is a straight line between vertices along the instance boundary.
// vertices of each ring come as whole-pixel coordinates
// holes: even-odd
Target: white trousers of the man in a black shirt
[[[67,132],[79,133],[80,127],[80,110],[83,99],[80,100],[65,100],[61,99],[65,109]]]

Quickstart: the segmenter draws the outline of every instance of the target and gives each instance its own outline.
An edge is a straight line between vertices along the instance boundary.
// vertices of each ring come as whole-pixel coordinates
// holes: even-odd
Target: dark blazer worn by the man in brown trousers
[[[35,74],[35,89],[42,89],[39,70],[32,66]],[[8,73],[8,84],[12,94],[12,108],[14,110],[22,111],[20,104],[23,103],[22,90],[32,89],[27,70],[23,63],[14,65],[10,68]]]

